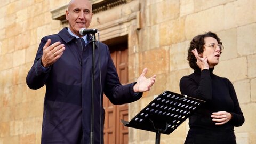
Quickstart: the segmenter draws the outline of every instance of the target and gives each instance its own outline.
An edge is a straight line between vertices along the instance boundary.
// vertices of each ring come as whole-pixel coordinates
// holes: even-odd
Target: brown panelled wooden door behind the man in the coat
[[[114,48],[116,47],[116,48]],[[116,70],[121,84],[128,82],[128,49],[127,44],[110,46],[111,58],[116,66]],[[105,109],[104,143],[105,144],[127,144],[128,128],[124,127],[120,119],[128,121],[128,105],[113,105],[108,98],[103,97],[103,107]]]

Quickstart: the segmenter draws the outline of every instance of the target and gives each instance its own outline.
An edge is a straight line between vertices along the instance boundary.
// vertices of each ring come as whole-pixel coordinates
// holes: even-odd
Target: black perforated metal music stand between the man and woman
[[[156,133],[156,144],[160,134],[172,133],[205,101],[164,91],[151,101],[130,122],[121,119],[124,126]]]

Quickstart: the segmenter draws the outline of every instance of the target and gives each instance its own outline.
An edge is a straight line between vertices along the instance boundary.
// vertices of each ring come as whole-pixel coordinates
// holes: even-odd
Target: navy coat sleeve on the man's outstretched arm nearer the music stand
[[[133,85],[135,83],[121,85],[110,52],[108,52],[108,67],[104,83],[104,93],[114,105],[134,102],[142,97],[142,92],[134,93]]]

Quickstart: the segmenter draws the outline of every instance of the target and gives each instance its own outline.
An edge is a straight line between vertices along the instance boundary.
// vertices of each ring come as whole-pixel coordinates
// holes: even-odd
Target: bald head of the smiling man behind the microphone
[[[66,11],[66,19],[69,22],[70,30],[81,37],[79,30],[90,26],[92,14],[92,5],[88,0],[71,1]]]

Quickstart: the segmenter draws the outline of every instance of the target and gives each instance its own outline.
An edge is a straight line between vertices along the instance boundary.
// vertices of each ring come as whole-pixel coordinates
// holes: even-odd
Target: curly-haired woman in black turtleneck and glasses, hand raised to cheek
[[[234,126],[244,123],[232,83],[213,74],[222,50],[219,37],[212,32],[190,42],[188,61],[194,73],[181,78],[180,91],[206,103],[189,117],[185,143],[236,143]]]

